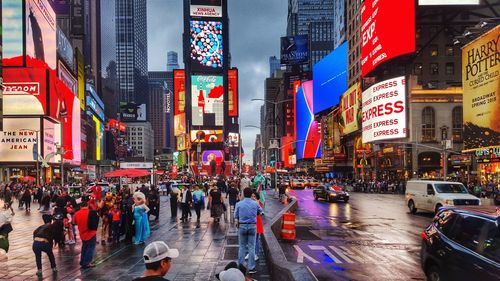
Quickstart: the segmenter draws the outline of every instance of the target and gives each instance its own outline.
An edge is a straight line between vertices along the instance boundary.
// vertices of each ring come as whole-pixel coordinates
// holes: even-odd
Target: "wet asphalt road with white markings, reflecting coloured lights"
[[[425,280],[420,233],[430,213],[411,215],[403,195],[350,193],[348,203],[299,200],[297,239],[282,243],[291,262],[309,266],[318,280]]]

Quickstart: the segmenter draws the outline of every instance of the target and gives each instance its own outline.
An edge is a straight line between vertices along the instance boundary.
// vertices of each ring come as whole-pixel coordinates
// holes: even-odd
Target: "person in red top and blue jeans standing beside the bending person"
[[[80,253],[80,266],[83,269],[95,267],[92,263],[96,247],[96,233],[99,225],[99,215],[94,210],[89,210],[87,200],[82,200],[81,208],[75,213],[73,223],[78,226],[82,250]]]

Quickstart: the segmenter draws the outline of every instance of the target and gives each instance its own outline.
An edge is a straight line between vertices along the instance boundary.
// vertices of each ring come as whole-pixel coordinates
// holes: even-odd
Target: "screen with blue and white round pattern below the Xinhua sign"
[[[222,69],[222,22],[192,20],[189,22],[191,70]]]

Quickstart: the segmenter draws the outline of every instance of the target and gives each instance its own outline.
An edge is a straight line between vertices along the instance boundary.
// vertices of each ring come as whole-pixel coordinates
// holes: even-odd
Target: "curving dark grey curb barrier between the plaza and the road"
[[[264,226],[263,248],[266,256],[267,264],[271,272],[273,281],[317,281],[308,266],[289,262],[285,253],[281,249],[277,237],[281,230],[283,214],[293,212],[298,207],[298,201],[295,198],[289,197],[289,203],[281,210],[269,223]]]

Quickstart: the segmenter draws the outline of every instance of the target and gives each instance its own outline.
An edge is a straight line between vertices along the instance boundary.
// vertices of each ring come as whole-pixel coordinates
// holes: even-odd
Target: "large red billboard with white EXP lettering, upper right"
[[[415,1],[366,0],[361,5],[361,75],[415,51]]]

